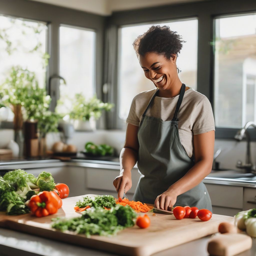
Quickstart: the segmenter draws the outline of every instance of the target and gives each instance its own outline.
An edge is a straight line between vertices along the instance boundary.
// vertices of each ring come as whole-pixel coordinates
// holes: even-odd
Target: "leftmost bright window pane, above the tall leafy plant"
[[[21,66],[45,87],[46,33],[44,23],[0,16],[0,84],[12,66]]]

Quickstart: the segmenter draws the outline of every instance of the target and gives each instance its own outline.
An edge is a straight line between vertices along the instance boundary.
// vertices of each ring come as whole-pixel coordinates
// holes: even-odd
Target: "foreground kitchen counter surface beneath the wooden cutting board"
[[[152,256],[169,255],[190,255],[208,256],[207,244],[211,236],[194,240],[179,246],[152,254]],[[253,239],[253,246],[250,250],[238,254],[237,256],[255,256],[256,239]],[[29,234],[20,233],[13,230],[0,228],[0,256],[110,256],[116,255],[108,252],[98,251],[66,244],[62,242],[48,240]]]

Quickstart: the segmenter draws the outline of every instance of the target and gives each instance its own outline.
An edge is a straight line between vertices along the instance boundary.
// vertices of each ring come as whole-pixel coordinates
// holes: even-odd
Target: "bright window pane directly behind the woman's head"
[[[122,27],[119,29],[119,118],[126,120],[133,97],[146,90],[154,89],[153,82],[148,80],[138,62],[132,43],[138,35],[142,35],[153,24]],[[177,67],[182,72],[180,80],[187,86],[197,89],[197,19],[165,22],[155,25],[167,25],[182,36],[182,50],[178,54]]]

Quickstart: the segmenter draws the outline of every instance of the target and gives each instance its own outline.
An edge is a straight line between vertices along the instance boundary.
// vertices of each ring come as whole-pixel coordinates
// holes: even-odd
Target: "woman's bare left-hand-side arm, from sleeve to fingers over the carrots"
[[[131,170],[138,159],[138,128],[136,125],[127,124],[125,143],[120,154],[120,175],[113,181],[118,198],[123,198],[123,194],[132,187]]]

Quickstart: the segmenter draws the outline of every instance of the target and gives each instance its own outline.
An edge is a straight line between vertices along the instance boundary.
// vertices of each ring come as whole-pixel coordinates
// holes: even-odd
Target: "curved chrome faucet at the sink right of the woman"
[[[247,140],[247,147],[246,147],[246,163],[243,164],[242,161],[238,161],[236,167],[237,168],[241,168],[241,169],[245,169],[247,173],[255,173],[256,169],[255,166],[253,166],[252,161],[251,161],[251,146],[250,146],[250,135],[247,131],[247,129],[253,126],[254,128],[256,128],[256,123],[250,121],[248,123],[246,123],[246,125],[240,129],[237,134],[235,135],[235,139],[237,141],[241,141],[244,137],[244,135],[246,136],[246,140]]]

